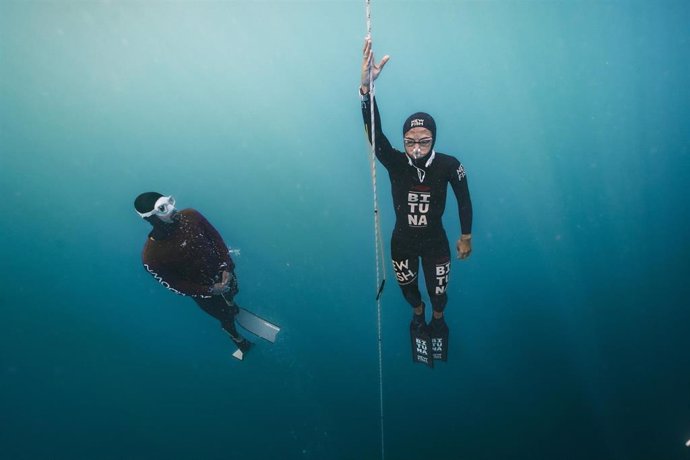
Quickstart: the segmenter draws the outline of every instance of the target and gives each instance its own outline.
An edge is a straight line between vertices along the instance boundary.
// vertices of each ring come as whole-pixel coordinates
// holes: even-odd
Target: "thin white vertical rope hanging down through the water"
[[[371,38],[371,0],[366,1],[367,13],[367,37]],[[376,126],[374,124],[374,78],[373,62],[369,63],[369,104],[371,116],[371,151],[369,160],[371,164],[371,184],[374,192],[374,240],[376,247],[376,327],[378,332],[378,351],[379,351],[379,412],[381,424],[381,460],[385,458],[385,438],[383,429],[383,341],[381,334],[381,293],[386,283],[386,270],[383,266],[385,260],[383,252],[383,238],[381,238],[381,220],[379,216],[378,196],[376,190]]]

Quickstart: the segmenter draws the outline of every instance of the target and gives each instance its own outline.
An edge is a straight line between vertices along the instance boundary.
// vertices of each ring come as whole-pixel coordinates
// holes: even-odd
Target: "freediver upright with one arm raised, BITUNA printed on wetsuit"
[[[395,207],[395,228],[391,238],[393,269],[403,296],[414,309],[410,332],[413,359],[433,365],[445,361],[448,352],[448,326],[443,312],[448,301],[450,247],[442,216],[448,184],[458,202],[461,235],[456,243],[457,257],[466,259],[472,252],[472,201],[465,169],[457,158],[436,152],[436,124],[427,113],[411,115],[403,125],[405,152],[393,148],[381,129],[376,99],[369,94],[369,78],[376,79],[389,57],[376,64],[371,39],[364,43],[362,78],[359,89],[364,126],[371,142],[371,105],[374,105],[376,157],[388,170]],[[425,305],[418,287],[419,259],[433,315],[428,326]],[[428,354],[428,349],[433,353]]]

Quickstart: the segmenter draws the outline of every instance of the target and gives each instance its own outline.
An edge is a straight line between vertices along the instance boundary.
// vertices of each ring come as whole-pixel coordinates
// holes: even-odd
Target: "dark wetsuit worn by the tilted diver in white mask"
[[[235,341],[240,340],[235,328],[238,307],[232,302],[238,292],[235,264],[223,238],[201,213],[183,209],[175,214],[173,223],[154,227],[141,258],[146,271],[159,283],[192,297]],[[230,290],[223,296],[213,295],[211,288],[223,271],[230,272]]]

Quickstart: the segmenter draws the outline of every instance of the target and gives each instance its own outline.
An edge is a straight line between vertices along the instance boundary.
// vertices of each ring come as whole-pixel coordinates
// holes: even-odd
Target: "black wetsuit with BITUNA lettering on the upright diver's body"
[[[362,96],[364,126],[371,142],[370,98]],[[448,184],[458,202],[463,234],[472,232],[472,201],[465,169],[457,158],[431,151],[413,162],[393,148],[381,130],[381,117],[374,99],[376,157],[388,170],[395,207],[395,229],[391,238],[391,258],[398,284],[412,307],[422,303],[417,277],[419,258],[435,311],[443,311],[448,301],[450,247],[443,228]]]

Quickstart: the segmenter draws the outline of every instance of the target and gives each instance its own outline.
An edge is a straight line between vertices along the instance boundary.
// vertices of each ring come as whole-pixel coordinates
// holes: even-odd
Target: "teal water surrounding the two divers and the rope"
[[[447,364],[387,264],[386,458],[688,458],[690,4],[372,15],[385,132],[433,114],[475,211]],[[0,457],[380,458],[365,33],[359,1],[0,2]],[[141,268],[148,190],[240,248],[277,343],[234,361]]]

